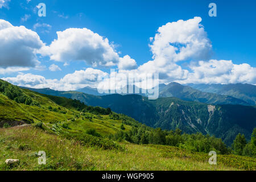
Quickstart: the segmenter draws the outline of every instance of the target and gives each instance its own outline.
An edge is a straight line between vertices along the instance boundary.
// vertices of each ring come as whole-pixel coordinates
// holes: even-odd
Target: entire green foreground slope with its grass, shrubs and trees
[[[0,83],[0,170],[212,170],[211,150],[218,170],[255,170],[255,158],[232,155],[221,139],[153,129],[109,108]],[[46,166],[37,163],[42,150]],[[20,163],[7,166],[9,158]]]

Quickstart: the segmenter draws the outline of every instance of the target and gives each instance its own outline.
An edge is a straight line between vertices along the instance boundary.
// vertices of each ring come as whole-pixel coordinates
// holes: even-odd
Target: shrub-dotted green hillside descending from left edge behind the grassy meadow
[[[64,97],[48,96],[32,92],[26,89],[19,89],[17,86],[1,81],[5,88],[11,88],[23,93],[27,98],[36,102],[36,105],[18,104],[9,97],[0,93],[0,126],[8,123],[10,126],[22,125],[24,123],[44,123],[49,129],[67,130],[86,133],[87,130],[95,129],[101,135],[108,136],[121,130],[122,120],[127,120],[134,125],[137,121],[125,115],[118,115],[119,119],[112,119],[113,115],[109,109],[101,107],[90,107],[80,101]],[[0,87],[1,87],[0,85]],[[60,127],[61,126],[61,127]],[[65,126],[65,127],[63,127]],[[60,129],[59,129],[60,127]],[[125,125],[126,130],[131,126]]]

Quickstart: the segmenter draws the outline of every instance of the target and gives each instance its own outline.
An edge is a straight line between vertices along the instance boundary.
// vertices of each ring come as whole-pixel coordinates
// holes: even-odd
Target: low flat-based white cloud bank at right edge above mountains
[[[231,60],[199,61],[189,66],[192,70],[181,84],[236,84],[238,82],[255,84],[256,68],[249,64],[233,64]]]

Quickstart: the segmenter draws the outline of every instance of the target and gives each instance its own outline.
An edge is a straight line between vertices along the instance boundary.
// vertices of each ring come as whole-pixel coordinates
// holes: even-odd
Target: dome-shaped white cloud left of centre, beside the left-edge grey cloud
[[[55,61],[85,61],[93,67],[110,67],[119,61],[118,53],[107,38],[87,28],[68,28],[57,32],[57,39],[40,51]]]

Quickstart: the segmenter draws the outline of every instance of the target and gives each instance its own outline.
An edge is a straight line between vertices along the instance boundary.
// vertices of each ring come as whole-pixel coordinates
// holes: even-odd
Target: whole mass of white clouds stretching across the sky
[[[1,0],[0,0],[1,1]],[[68,28],[57,32],[57,39],[49,46],[44,46],[36,32],[25,27],[14,27],[5,20],[0,20],[0,72],[24,71],[28,68],[42,68],[36,61],[35,52],[50,56],[51,60],[61,61],[67,66],[71,61],[85,61],[92,67],[117,66],[117,84],[123,85],[123,73],[133,73],[137,77],[147,73],[159,73],[160,83],[176,81],[187,83],[256,83],[256,68],[249,64],[234,64],[231,60],[208,60],[212,45],[207,38],[201,18],[179,20],[159,27],[154,38],[150,38],[152,60],[138,67],[129,55],[119,57],[112,43],[87,28]],[[48,24],[34,25],[51,28]],[[25,33],[26,32],[26,33]],[[13,36],[15,35],[15,36]],[[19,35],[19,38],[17,38]],[[38,50],[40,48],[40,50]],[[8,53],[6,53],[8,52]],[[178,61],[193,61],[188,69],[183,69]],[[15,70],[13,69],[13,70]],[[52,64],[51,71],[61,70]],[[109,76],[99,69],[87,68],[75,71],[61,78],[46,79],[39,75],[19,73],[16,77],[5,78],[14,84],[56,90],[76,90],[85,86],[97,87],[98,77]],[[32,78],[30,78],[32,77]],[[108,82],[108,79],[105,81]],[[106,82],[105,82],[106,83]],[[101,82],[102,86],[105,84]]]

